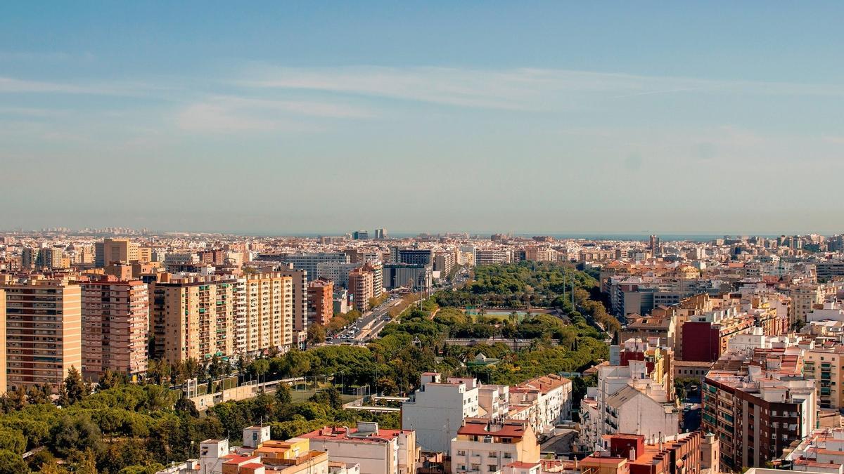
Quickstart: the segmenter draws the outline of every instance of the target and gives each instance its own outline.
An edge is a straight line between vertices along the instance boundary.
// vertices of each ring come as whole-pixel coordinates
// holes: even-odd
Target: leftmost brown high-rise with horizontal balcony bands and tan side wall
[[[0,289],[6,292],[9,386],[57,387],[71,367],[82,369],[79,285],[41,280]]]

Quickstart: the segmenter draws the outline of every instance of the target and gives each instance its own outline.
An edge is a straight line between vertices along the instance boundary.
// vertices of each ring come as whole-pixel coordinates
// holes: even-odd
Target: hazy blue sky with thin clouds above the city
[[[841,3],[3,3],[0,229],[841,231]]]

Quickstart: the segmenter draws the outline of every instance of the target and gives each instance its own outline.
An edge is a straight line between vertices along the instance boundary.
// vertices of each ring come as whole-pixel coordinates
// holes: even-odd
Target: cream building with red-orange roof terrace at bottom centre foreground
[[[452,473],[503,472],[513,462],[539,461],[539,444],[524,420],[467,418],[452,439]]]

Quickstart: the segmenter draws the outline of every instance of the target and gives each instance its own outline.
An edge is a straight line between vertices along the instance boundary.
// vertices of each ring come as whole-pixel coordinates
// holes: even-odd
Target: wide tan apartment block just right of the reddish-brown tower
[[[154,357],[175,363],[234,353],[244,281],[235,277],[173,277],[150,283]]]

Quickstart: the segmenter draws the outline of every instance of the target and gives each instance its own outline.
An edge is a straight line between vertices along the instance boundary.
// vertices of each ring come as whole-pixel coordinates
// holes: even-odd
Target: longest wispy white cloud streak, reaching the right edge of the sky
[[[256,67],[237,84],[505,110],[559,110],[582,100],[653,94],[742,93],[844,97],[844,86],[595,73],[560,69],[454,67]]]

